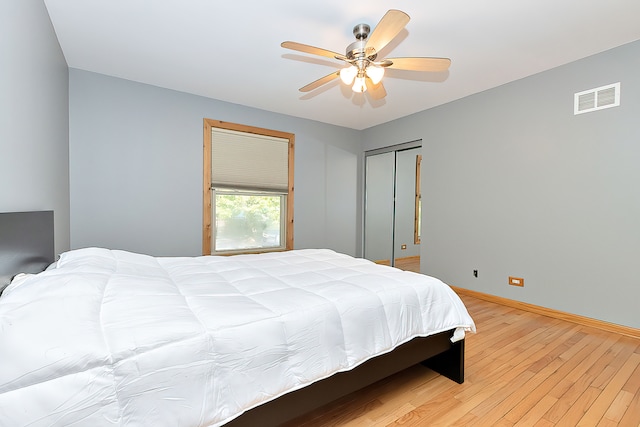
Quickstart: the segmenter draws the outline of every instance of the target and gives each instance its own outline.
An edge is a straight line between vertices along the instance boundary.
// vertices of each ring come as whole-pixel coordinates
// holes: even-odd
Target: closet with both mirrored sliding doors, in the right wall
[[[364,257],[420,269],[421,141],[365,152]]]

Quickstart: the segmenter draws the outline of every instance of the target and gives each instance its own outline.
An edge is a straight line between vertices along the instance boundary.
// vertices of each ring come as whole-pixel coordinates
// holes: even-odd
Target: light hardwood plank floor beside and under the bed
[[[640,340],[461,297],[466,378],[414,366],[296,426],[638,426]]]

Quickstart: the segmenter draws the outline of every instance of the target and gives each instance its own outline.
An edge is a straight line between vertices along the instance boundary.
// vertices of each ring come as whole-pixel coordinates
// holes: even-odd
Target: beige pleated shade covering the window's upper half
[[[211,185],[214,188],[288,191],[289,140],[213,128]]]

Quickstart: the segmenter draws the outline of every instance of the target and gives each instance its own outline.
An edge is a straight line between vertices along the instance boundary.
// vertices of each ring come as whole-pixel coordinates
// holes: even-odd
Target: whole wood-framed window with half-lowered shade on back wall
[[[293,248],[294,135],[204,120],[202,252]]]

